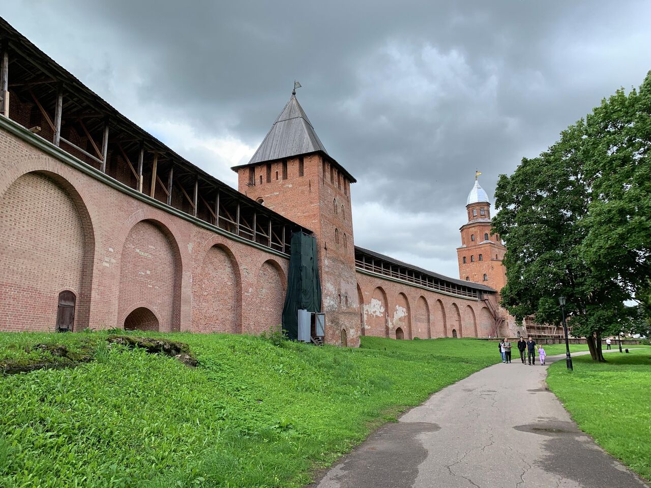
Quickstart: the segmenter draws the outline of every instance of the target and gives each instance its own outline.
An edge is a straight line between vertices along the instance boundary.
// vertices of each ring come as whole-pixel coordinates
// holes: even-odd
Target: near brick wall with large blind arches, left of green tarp
[[[284,280],[285,256],[126,195],[6,131],[0,131],[0,198],[0,330],[54,330],[64,289],[77,295],[76,331],[124,327],[138,307],[150,310],[161,330],[256,332],[279,323],[284,282],[270,291],[274,305],[260,308],[258,275],[272,262],[262,274],[272,265]],[[215,245],[232,255],[235,282],[222,280],[228,267],[214,274]],[[214,306],[208,328],[201,321],[193,327],[193,314],[205,316],[208,307],[194,277],[217,287],[208,294]]]

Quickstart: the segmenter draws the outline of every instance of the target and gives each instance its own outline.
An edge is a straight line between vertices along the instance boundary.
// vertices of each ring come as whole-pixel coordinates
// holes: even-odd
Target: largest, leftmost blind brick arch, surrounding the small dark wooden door
[[[22,164],[19,162],[22,161]],[[56,170],[54,170],[56,169]],[[7,167],[0,187],[0,328],[53,331],[61,290],[76,295],[74,331],[90,327],[95,234],[66,171],[47,157]],[[20,315],[20,318],[19,318]]]

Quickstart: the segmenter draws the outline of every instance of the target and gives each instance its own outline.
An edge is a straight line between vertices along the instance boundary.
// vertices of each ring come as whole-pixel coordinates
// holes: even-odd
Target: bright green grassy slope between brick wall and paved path
[[[201,366],[107,349],[103,332],[0,334],[0,358],[36,342],[98,347],[74,370],[0,377],[0,486],[299,486],[378,422],[499,360],[466,339],[341,349],[165,336]]]

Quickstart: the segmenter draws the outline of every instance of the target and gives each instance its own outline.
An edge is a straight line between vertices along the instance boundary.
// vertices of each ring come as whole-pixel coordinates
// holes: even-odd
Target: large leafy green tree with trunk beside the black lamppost
[[[651,74],[501,175],[495,191],[493,232],[508,249],[503,305],[519,321],[558,324],[564,295],[572,334],[594,360],[603,361],[601,337],[635,314],[624,302],[649,290],[650,107]]]

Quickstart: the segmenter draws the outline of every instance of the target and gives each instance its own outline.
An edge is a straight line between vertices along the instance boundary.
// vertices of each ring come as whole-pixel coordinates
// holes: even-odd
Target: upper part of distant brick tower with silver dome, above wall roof
[[[506,247],[499,235],[491,235],[490,202],[477,176],[465,208],[468,222],[460,228],[462,245],[456,249],[459,277],[499,291],[506,284],[506,270],[502,264]]]

